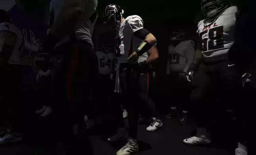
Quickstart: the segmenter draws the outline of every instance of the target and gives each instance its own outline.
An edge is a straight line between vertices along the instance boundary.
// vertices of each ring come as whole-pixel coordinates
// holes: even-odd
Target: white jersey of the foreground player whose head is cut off
[[[49,19],[49,28],[53,25],[53,23],[56,21],[58,14],[60,13],[60,9],[62,8],[62,5],[64,4],[64,0],[51,0],[50,2],[50,19]],[[94,30],[94,26],[97,20],[97,13],[96,8],[98,5],[97,0],[88,0],[86,11],[83,13],[82,17],[80,18],[80,21],[78,22],[75,32],[76,32],[76,38],[78,40],[83,40],[87,43],[90,43],[93,47],[92,42],[92,34]],[[66,37],[64,40],[60,41],[56,46],[61,45],[64,42],[67,42],[69,40],[69,36]]]

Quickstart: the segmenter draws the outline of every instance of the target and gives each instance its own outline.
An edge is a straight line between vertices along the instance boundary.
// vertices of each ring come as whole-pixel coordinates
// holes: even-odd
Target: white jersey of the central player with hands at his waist
[[[118,63],[127,63],[128,57],[140,46],[143,42],[140,38],[133,35],[137,30],[143,28],[143,20],[138,15],[132,15],[125,19],[124,22],[120,24],[119,28],[119,38],[120,39],[120,54],[121,57],[117,57]],[[147,60],[148,55],[144,53],[138,59],[138,62]]]

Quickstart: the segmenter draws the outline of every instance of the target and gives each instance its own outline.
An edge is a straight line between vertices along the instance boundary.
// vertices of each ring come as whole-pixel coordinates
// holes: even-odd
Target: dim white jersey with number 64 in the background
[[[113,61],[114,61],[114,53],[104,53],[102,51],[97,51],[96,55],[98,57],[98,65],[99,65],[99,74],[101,75],[109,75],[111,74]]]

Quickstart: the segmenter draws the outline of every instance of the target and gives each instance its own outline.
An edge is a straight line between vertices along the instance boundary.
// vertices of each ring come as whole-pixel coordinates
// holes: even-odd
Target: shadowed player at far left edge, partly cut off
[[[21,31],[11,23],[8,13],[0,9],[0,145],[21,140],[19,130],[20,56],[23,50]],[[14,132],[11,132],[10,129]]]

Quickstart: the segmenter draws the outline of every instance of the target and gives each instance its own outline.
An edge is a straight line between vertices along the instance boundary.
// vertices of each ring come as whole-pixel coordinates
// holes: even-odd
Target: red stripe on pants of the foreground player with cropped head
[[[68,70],[67,76],[67,97],[71,100],[72,98],[72,83],[74,74],[78,66],[78,44],[72,45],[71,47],[71,64]]]

